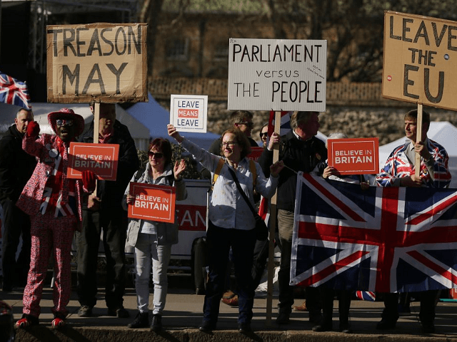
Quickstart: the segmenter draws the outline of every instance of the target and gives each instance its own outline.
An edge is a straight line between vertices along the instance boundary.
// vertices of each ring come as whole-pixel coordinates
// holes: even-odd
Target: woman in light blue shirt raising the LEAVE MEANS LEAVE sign
[[[196,160],[214,174],[219,172],[208,208],[209,227],[206,241],[209,247],[209,282],[204,300],[204,318],[199,329],[211,332],[216,328],[219,304],[225,289],[226,267],[229,249],[233,251],[233,264],[238,292],[238,331],[251,331],[254,289],[251,268],[253,248],[256,243],[255,219],[245,200],[237,190],[234,177],[238,178],[243,191],[253,205],[253,190],[264,197],[271,197],[276,190],[278,173],[283,162],[271,165],[269,178],[263,175],[260,165],[254,162],[257,180],[253,185],[249,142],[240,130],[226,130],[222,135],[221,152],[224,157],[213,155],[179,135],[173,125],[168,125],[169,135],[189,150]],[[219,165],[219,167],[218,167]],[[231,174],[233,172],[233,175]]]

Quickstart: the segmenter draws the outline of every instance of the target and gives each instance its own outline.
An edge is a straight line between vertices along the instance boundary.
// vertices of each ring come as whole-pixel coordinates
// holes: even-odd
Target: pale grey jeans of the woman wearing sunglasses
[[[166,270],[171,257],[171,244],[157,245],[156,234],[140,233],[135,246],[135,291],[138,309],[141,313],[149,309],[149,274],[154,282],[154,310],[152,314],[162,314],[165,307],[168,279]]]

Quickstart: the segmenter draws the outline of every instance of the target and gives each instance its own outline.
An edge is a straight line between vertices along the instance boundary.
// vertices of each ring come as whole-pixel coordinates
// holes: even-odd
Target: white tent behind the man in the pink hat
[[[86,123],[86,129],[89,127],[94,118],[89,105],[86,103],[31,103],[31,108],[34,111],[34,119],[39,123],[41,133],[54,134],[48,124],[48,114],[61,108],[71,108],[75,113],[81,115]],[[14,123],[16,113],[20,107],[16,105],[7,105],[0,103],[0,135],[3,135],[6,130]],[[149,130],[138,120],[133,118],[121,106],[116,105],[116,118],[129,127],[130,134],[135,140],[136,148],[146,150],[149,144]]]

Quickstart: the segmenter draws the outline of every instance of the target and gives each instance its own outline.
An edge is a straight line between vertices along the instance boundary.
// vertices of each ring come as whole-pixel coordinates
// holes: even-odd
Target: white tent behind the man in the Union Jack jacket
[[[438,142],[448,152],[448,167],[451,171],[452,180],[450,187],[457,188],[457,128],[448,121],[433,121],[430,123],[427,136]],[[379,147],[379,168],[381,169],[394,148],[403,145],[406,138],[400,138]]]

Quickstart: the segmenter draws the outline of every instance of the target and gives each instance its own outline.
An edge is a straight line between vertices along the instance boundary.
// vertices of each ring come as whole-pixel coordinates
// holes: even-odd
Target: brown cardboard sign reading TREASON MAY
[[[46,26],[50,103],[147,101],[146,24]]]

